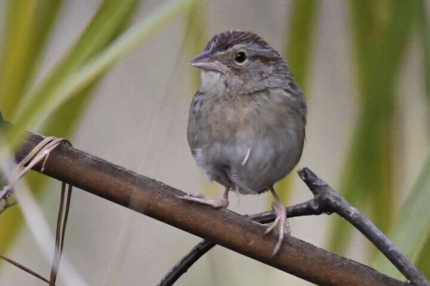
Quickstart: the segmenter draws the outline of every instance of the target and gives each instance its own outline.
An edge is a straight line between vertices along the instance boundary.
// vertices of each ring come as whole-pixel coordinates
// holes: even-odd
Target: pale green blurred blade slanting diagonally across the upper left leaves
[[[60,80],[47,85],[48,88],[43,85],[42,88],[39,87],[32,91],[27,97],[28,104],[20,108],[15,117],[13,131],[7,133],[10,144],[13,147],[17,145],[19,139],[24,135],[25,130],[34,124],[35,118],[43,115],[47,116],[79,91],[88,87],[95,78],[108,70],[123,56],[130,53],[153,32],[168,23],[175,16],[187,12],[192,6],[197,5],[197,3],[200,4],[202,2],[197,0],[182,0],[164,3],[156,12],[122,33],[115,42],[108,45],[85,64],[69,71]],[[0,157],[4,153],[5,149],[3,148],[0,150]]]

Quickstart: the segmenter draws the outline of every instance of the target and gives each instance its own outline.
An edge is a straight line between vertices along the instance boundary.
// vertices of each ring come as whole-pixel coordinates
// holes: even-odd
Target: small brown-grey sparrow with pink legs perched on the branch
[[[273,185],[293,170],[305,139],[306,102],[285,61],[260,36],[232,30],[214,36],[191,60],[202,70],[188,119],[188,143],[209,180],[225,186],[220,200],[181,198],[227,207],[228,192],[274,196],[279,224],[275,255],[284,232],[285,208]]]

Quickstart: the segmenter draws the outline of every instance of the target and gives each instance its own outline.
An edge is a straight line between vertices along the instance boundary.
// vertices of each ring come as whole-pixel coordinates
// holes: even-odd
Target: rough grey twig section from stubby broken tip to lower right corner
[[[409,280],[412,285],[430,285],[409,259],[368,218],[352,207],[346,199],[333,190],[308,168],[298,171],[314,195],[318,208],[329,209],[346,219],[363,233],[374,246]]]

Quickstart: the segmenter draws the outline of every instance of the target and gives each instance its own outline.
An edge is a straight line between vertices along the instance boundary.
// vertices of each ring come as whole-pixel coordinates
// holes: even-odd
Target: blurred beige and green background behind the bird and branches
[[[114,164],[218,198],[221,187],[204,181],[187,144],[199,81],[188,62],[216,33],[256,32],[286,59],[307,98],[297,168],[342,192],[430,277],[428,15],[424,0],[1,0],[0,111],[15,124],[12,143],[23,130],[66,137]],[[34,172],[24,179],[54,235],[60,183]],[[286,205],[312,197],[295,172],[275,189]],[[271,199],[232,194],[229,209],[258,213]],[[0,215],[0,254],[49,277],[51,261],[21,208]],[[335,215],[290,224],[295,237],[401,277]],[[88,285],[154,285],[198,241],[75,189],[64,257]],[[58,284],[69,284],[66,271],[60,265]],[[0,281],[46,284],[3,261]],[[279,283],[310,284],[217,246],[176,284]]]

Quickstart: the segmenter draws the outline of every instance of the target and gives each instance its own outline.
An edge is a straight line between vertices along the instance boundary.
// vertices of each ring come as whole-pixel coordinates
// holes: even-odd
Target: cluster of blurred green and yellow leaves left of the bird
[[[0,57],[0,106],[5,117],[14,124],[3,134],[12,146],[16,146],[25,129],[41,120],[45,120],[40,131],[43,134],[69,137],[99,79],[112,64],[196,1],[165,3],[134,30],[127,30],[139,3],[138,0],[102,2],[79,39],[35,87],[30,84],[39,70],[43,48],[49,43],[63,2],[11,0],[7,3],[3,11],[6,22]],[[61,97],[60,93],[67,96]],[[49,112],[49,116],[43,111]],[[6,148],[0,147],[1,157]],[[46,178],[40,174],[29,174],[25,178],[35,193],[40,194]],[[21,223],[18,208],[2,214],[0,252],[14,241]]]

